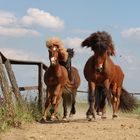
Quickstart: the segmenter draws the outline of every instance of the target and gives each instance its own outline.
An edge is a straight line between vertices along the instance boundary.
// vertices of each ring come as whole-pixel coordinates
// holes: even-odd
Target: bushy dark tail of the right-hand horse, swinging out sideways
[[[124,88],[122,88],[119,107],[123,112],[132,112],[138,107],[137,99]]]

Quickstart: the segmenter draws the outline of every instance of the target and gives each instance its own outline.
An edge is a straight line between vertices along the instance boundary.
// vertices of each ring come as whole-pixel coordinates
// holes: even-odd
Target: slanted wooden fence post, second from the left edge
[[[24,105],[22,96],[20,94],[20,91],[19,91],[19,88],[17,85],[17,81],[15,78],[14,72],[12,70],[10,61],[8,59],[5,61],[5,67],[6,67],[6,70],[7,70],[11,85],[12,85],[13,92],[14,92],[16,100],[18,102],[18,105],[20,105],[20,107],[24,107],[25,105]]]

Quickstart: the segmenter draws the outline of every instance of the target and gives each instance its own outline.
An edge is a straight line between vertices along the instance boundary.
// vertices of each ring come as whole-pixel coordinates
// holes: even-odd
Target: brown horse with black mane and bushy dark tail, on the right
[[[112,104],[113,118],[118,116],[119,108],[125,111],[134,110],[136,100],[123,88],[124,72],[110,58],[115,55],[112,37],[105,31],[97,31],[87,37],[81,46],[90,47],[94,52],[84,66],[84,77],[89,89],[87,118],[95,118],[95,111],[100,109],[101,118],[106,118],[106,98]],[[128,102],[130,100],[132,102]]]

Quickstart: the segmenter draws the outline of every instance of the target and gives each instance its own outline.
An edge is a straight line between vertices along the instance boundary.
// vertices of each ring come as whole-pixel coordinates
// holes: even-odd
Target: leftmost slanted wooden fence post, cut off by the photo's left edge
[[[8,80],[6,78],[6,74],[5,74],[2,64],[3,64],[2,58],[0,55],[0,85],[1,85],[3,96],[4,96],[4,102],[6,106],[6,115],[7,117],[14,119],[15,109],[14,109],[14,103],[12,100],[12,92],[10,91]]]

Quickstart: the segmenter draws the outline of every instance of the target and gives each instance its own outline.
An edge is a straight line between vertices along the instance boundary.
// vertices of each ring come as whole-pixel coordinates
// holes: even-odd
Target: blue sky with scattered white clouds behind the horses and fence
[[[80,72],[79,89],[86,90],[83,67],[92,52],[80,43],[96,31],[111,34],[113,61],[125,73],[124,87],[140,92],[139,0],[0,0],[0,51],[8,58],[37,60],[49,65],[45,41],[62,39],[74,48],[72,64]],[[13,66],[20,86],[37,83],[37,67]]]

